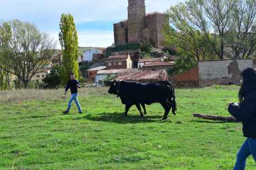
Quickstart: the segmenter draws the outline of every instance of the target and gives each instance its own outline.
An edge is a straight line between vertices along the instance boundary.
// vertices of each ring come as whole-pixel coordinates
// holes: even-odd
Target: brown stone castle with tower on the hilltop
[[[146,14],[145,0],[128,0],[128,19],[114,24],[115,45],[143,43],[160,48],[166,22],[166,14]]]

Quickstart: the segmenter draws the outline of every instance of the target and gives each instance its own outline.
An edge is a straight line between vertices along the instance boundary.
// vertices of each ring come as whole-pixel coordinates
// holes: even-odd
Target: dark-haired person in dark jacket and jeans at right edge
[[[239,103],[230,103],[228,108],[232,116],[243,122],[244,137],[247,137],[238,152],[234,170],[244,170],[250,155],[256,162],[256,71],[247,68],[241,77]]]

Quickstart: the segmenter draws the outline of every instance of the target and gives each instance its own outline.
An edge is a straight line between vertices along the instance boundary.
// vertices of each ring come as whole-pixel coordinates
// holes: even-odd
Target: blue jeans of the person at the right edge
[[[244,170],[246,166],[246,159],[251,154],[256,162],[256,139],[248,138],[238,152],[234,170]]]

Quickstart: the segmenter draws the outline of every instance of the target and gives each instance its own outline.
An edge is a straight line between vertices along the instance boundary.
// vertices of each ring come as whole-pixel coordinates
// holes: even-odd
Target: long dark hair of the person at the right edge
[[[241,73],[243,82],[238,93],[240,103],[244,102],[245,96],[252,90],[256,90],[256,71],[253,68],[247,68]]]

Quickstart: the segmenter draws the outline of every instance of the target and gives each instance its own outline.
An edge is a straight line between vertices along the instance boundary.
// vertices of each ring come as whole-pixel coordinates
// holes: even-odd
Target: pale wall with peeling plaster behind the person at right
[[[199,85],[240,85],[240,73],[248,67],[256,67],[254,59],[234,59],[199,62]]]

